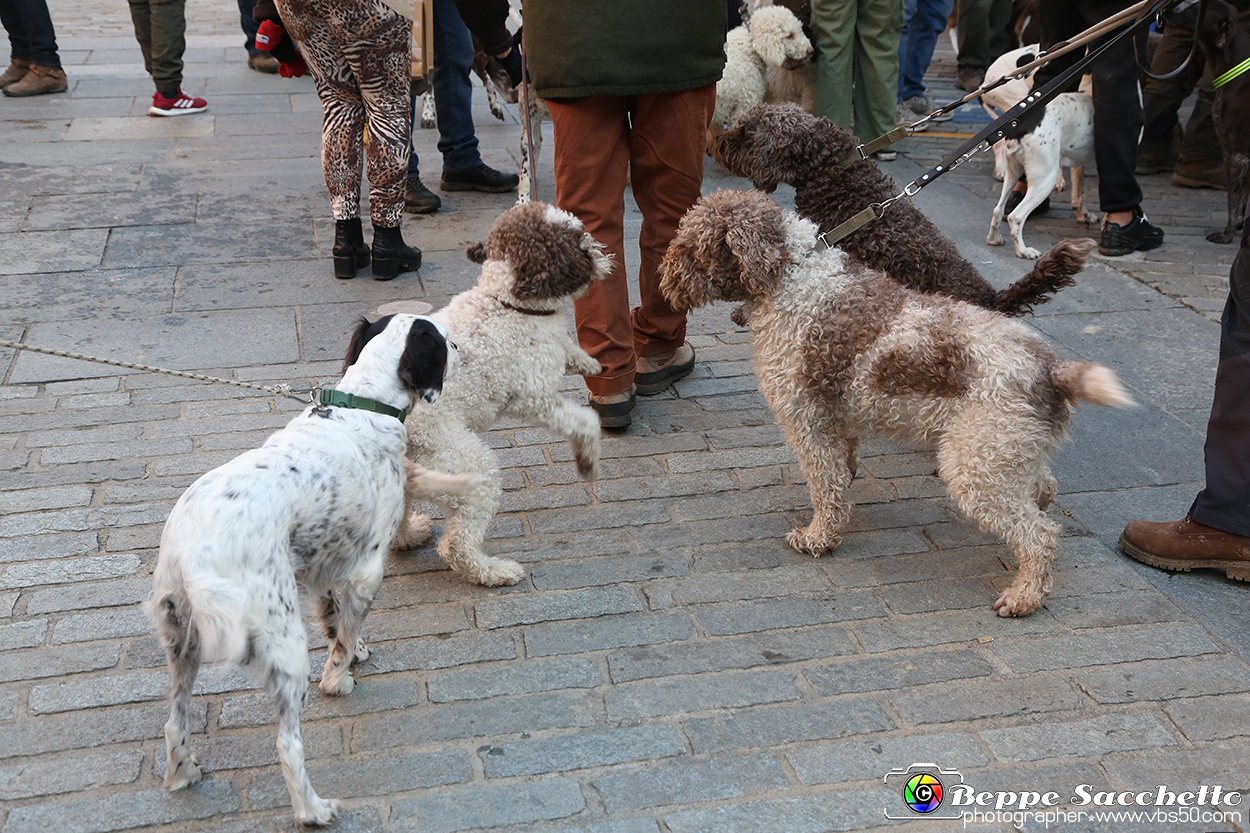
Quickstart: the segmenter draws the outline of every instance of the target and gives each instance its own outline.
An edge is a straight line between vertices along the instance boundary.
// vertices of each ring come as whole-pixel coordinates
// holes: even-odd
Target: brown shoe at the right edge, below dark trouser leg
[[[1250,582],[1250,538],[1204,527],[1189,515],[1170,524],[1132,520],[1120,535],[1120,549],[1129,558],[1165,570],[1208,567]]]

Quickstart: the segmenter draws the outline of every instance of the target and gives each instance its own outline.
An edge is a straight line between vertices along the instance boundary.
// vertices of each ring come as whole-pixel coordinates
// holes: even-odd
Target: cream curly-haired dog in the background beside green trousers
[[[745,24],[725,38],[725,70],[716,81],[709,141],[764,101],[765,70],[798,68],[809,58],[811,41],[802,34],[802,25],[792,11],[785,6],[756,9]]]

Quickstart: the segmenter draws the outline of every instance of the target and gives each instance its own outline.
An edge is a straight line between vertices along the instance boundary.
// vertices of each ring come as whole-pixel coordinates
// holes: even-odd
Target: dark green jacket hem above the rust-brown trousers
[[[725,0],[525,0],[540,98],[681,93],[720,80]]]

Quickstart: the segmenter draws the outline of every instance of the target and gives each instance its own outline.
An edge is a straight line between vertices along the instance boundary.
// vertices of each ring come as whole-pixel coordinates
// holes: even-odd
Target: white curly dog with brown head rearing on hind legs
[[[501,478],[476,432],[515,416],[568,438],[578,472],[598,474],[599,416],[561,396],[559,386],[570,371],[594,375],[601,368],[570,335],[562,306],[605,278],[611,261],[575,216],[544,203],[505,211],[469,258],[482,264],[478,285],[431,315],[459,345],[460,370],[436,403],[412,410],[408,454],[421,465],[480,475],[468,495],[440,502],[446,520],[439,554],[470,582],[516,584],[525,575],[520,564],[482,552]],[[414,510],[396,547],[424,544],[430,530],[430,519]]]

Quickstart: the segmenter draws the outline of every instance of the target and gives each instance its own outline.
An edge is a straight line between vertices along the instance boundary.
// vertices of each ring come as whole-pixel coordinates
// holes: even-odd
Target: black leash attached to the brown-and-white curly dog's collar
[[[1131,38],[1132,35],[1136,35],[1139,31],[1142,31],[1144,29],[1149,28],[1155,15],[1161,14],[1164,10],[1166,10],[1170,5],[1174,5],[1175,3],[1178,3],[1178,0],[1158,0],[1158,3],[1148,8],[1145,14],[1136,21],[1126,25],[1118,35],[1108,40],[1096,50],[1088,53],[1079,61],[1076,61],[1066,70],[1064,70],[1054,79],[1051,79],[1050,83],[1048,83],[1040,90],[1034,90],[1032,93],[1026,95],[1021,101],[1010,106],[1001,116],[999,116],[988,126],[982,128],[975,136],[972,136],[971,139],[961,144],[959,148],[956,148],[954,151],[951,151],[951,154],[946,156],[944,160],[941,160],[938,165],[930,168],[918,179],[914,179],[910,183],[908,183],[908,185],[899,194],[895,194],[890,199],[882,200],[881,203],[872,203],[866,209],[864,209],[851,219],[846,220],[834,230],[821,234],[820,239],[825,243],[826,246],[831,248],[838,245],[838,243],[840,240],[844,240],[848,235],[864,228],[870,221],[880,219],[881,215],[885,214],[885,209],[888,209],[894,203],[901,200],[904,196],[915,196],[916,194],[920,193],[920,189],[931,184],[935,179],[938,179],[942,174],[948,174],[951,170],[959,168],[961,164],[971,159],[978,151],[988,150],[990,145],[992,145],[995,141],[1004,139],[1009,130],[1018,128],[1020,125],[1020,119],[1024,116],[1025,113],[1028,113],[1034,108],[1044,106],[1048,101],[1059,95],[1059,93],[1074,78],[1081,75],[1085,71],[1086,66],[1099,60],[1108,49],[1110,49],[1112,45],[1122,40],[1124,38]],[[1062,45],[1065,44],[1055,44],[1056,48]],[[1044,60],[1045,55],[1039,55],[1038,59]],[[1005,79],[1000,80],[1000,83],[1005,83]],[[998,86],[998,84],[994,84],[985,89],[994,89],[994,86]],[[898,138],[892,136],[895,136],[895,134],[898,134],[900,130],[902,131],[904,135],[908,135],[910,133],[905,126],[891,130],[885,136],[875,139],[868,145],[864,145],[860,149],[860,151],[852,154],[851,159],[849,159],[848,161],[855,161],[856,155],[859,155],[861,159],[866,159],[868,158],[866,154],[871,153],[870,150],[868,150],[869,148],[884,148],[885,145],[898,141]]]

